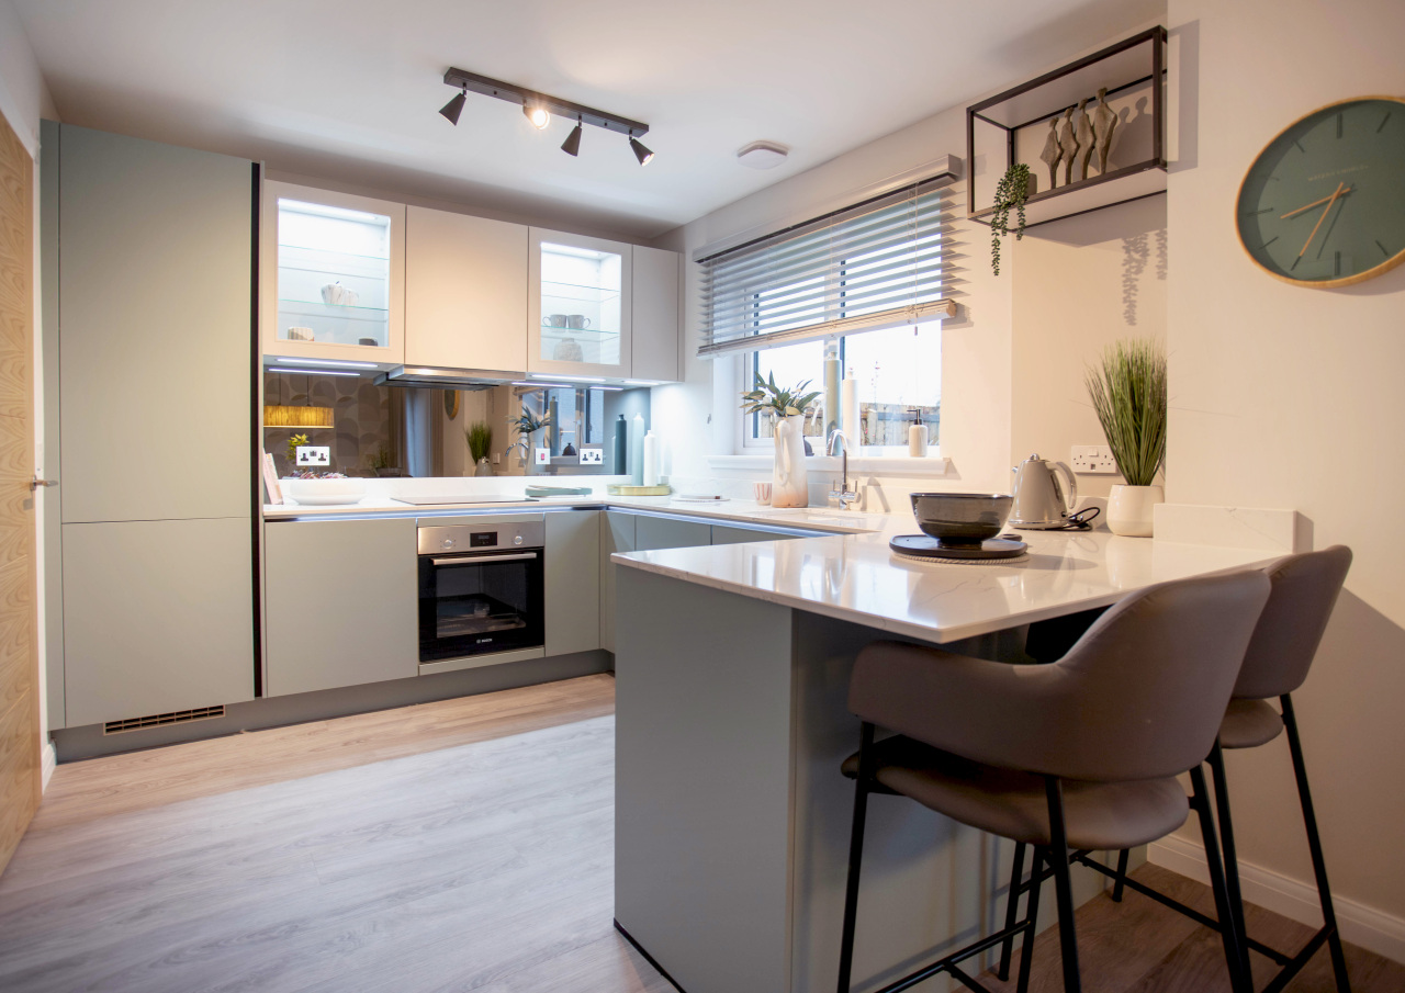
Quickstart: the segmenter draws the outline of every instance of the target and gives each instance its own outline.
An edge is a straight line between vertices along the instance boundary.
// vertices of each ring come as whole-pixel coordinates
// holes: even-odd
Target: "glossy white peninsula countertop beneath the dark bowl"
[[[1262,549],[1118,538],[1106,531],[1024,531],[1012,565],[926,563],[888,549],[912,518],[878,532],[673,548],[611,556],[674,579],[853,621],[927,642],[953,642],[1116,603],[1152,583],[1277,558]]]

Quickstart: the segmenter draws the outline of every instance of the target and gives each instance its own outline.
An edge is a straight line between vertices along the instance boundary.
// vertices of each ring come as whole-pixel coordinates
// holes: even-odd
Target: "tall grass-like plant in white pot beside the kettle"
[[[1149,538],[1152,508],[1165,500],[1155,483],[1166,461],[1166,351],[1159,341],[1117,341],[1085,374],[1087,395],[1125,483],[1113,486],[1107,527]]]

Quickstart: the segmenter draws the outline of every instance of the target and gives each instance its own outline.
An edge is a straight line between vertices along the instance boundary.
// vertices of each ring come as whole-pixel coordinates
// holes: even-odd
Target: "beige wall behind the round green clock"
[[[1250,160],[1291,121],[1335,100],[1405,96],[1405,4],[1172,0],[1169,27],[1183,129],[1168,201],[1168,499],[1294,507],[1315,546],[1356,552],[1295,699],[1333,892],[1399,930],[1405,267],[1346,289],[1281,284],[1239,247],[1234,204]],[[1232,754],[1229,775],[1242,860],[1309,882],[1281,740]]]

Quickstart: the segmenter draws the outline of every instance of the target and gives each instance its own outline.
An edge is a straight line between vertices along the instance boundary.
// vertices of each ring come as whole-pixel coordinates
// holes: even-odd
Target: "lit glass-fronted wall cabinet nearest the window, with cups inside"
[[[531,229],[530,371],[631,374],[632,251],[620,242]]]

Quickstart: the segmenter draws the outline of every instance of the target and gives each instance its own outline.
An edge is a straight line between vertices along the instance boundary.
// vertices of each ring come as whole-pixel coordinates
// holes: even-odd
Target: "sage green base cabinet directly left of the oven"
[[[267,695],[419,674],[413,518],[271,521],[264,562]]]

